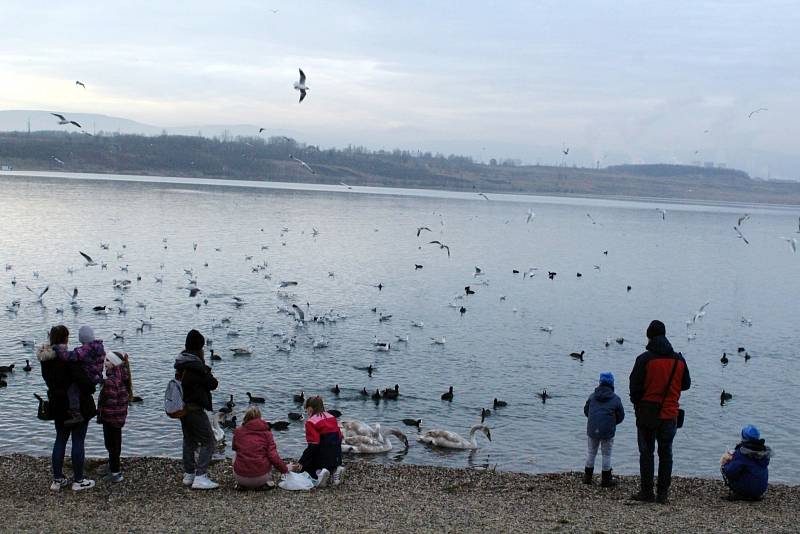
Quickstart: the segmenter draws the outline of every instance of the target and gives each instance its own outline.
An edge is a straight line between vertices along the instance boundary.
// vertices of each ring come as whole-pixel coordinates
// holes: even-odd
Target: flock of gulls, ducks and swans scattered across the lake
[[[485,194],[480,194],[481,198],[485,198],[486,200],[490,200],[488,196]],[[658,209],[658,213],[661,217],[662,221],[666,221],[666,211],[663,209]],[[592,217],[590,213],[586,214],[588,220],[592,224],[598,224],[598,222]],[[533,209],[529,209],[524,220],[525,224],[529,224],[535,217],[535,213]],[[737,224],[735,228],[737,231],[740,231],[743,224],[750,219],[750,215],[743,215],[739,217],[737,220]],[[442,226],[444,226],[443,219]],[[289,234],[289,228],[283,227],[280,231],[280,238],[281,244],[286,244],[287,235]],[[262,228],[263,232],[263,228]],[[430,226],[422,225],[418,226],[415,229],[415,234],[418,240],[423,238],[423,233],[432,233]],[[798,229],[797,233],[800,233],[800,219],[798,220]],[[320,235],[319,230],[316,228],[312,229],[311,236],[312,238],[317,238]],[[743,238],[744,239],[744,238]],[[788,239],[787,239],[788,240]],[[794,238],[792,238],[792,244],[794,244]],[[430,240],[430,241],[419,241],[419,247],[421,248],[423,244],[427,243],[428,245],[434,245],[438,247],[440,250],[443,250],[447,253],[448,258],[451,256],[451,249],[448,245],[443,243],[441,240]],[[749,241],[745,241],[745,243],[749,244]],[[167,239],[164,238],[162,240],[162,246],[166,250],[169,246]],[[110,252],[110,245],[109,243],[103,242],[100,243],[100,254],[111,254]],[[264,246],[262,250],[267,250],[269,247]],[[192,243],[192,251],[197,252],[198,250],[198,243]],[[221,252],[220,248],[215,248],[215,252]],[[792,250],[796,251],[796,247],[792,246]],[[608,256],[607,250],[602,251],[604,256]],[[121,262],[125,259],[126,254],[126,245],[122,244],[120,250],[118,250],[115,255],[116,259],[119,264],[116,268],[119,270],[121,275],[125,275],[129,272],[129,265],[127,263],[122,264]],[[84,261],[84,268],[85,269],[98,269],[100,271],[108,270],[108,261],[100,260],[97,256],[94,256],[94,253],[88,254],[84,251],[78,251],[77,255],[81,257]],[[253,255],[248,254],[245,256],[245,261],[249,263],[250,270],[254,274],[258,274],[263,276],[265,280],[272,280],[272,273],[269,269],[269,263],[265,260],[261,263],[256,263],[253,261]],[[208,266],[208,262],[204,262],[204,266]],[[423,269],[424,266],[421,264],[414,264],[414,270]],[[600,266],[595,265],[595,268],[599,270]],[[5,264],[4,270],[7,274],[11,275],[11,285],[16,287],[18,284],[17,275],[14,270],[13,265]],[[159,267],[159,272],[152,274],[152,283],[153,284],[162,284],[164,280],[164,264],[162,263]],[[73,274],[75,269],[73,267],[67,268],[68,274]],[[522,269],[513,269],[511,271],[512,276],[517,276],[522,274],[522,279],[526,278],[534,278],[538,275],[539,268],[538,267],[530,267],[527,270]],[[449,307],[457,308],[459,312],[463,315],[467,312],[467,300],[471,295],[476,293],[476,289],[480,286],[488,285],[488,281],[485,281],[485,270],[479,266],[474,267],[474,271],[472,273],[472,277],[475,280],[470,285],[464,287],[463,293],[458,293],[453,296]],[[547,278],[549,280],[555,280],[558,273],[554,271],[547,271]],[[328,276],[333,278],[335,277],[334,272],[329,272]],[[582,274],[580,272],[576,273],[577,277],[581,277]],[[201,288],[198,283],[198,276],[195,272],[194,268],[185,268],[183,269],[182,277],[184,279],[183,283],[179,286],[179,288],[186,292],[188,298],[194,300],[194,305],[198,309],[203,306],[208,306],[211,300],[220,300],[222,299],[223,302],[227,303],[228,305],[232,306],[234,309],[240,309],[243,306],[248,305],[247,299],[239,295],[224,295],[214,293],[210,290],[206,290],[205,288]],[[33,280],[38,280],[40,278],[38,272],[34,272],[32,276]],[[114,278],[111,281],[112,288],[114,290],[115,297],[113,299],[114,304],[95,304],[89,307],[90,313],[94,316],[107,316],[108,314],[116,314],[118,316],[127,317],[129,312],[129,305],[126,300],[126,295],[131,292],[131,289],[135,287],[138,283],[141,283],[143,277],[141,274],[137,274],[135,277],[136,282],[130,278]],[[319,326],[325,326],[329,324],[334,324],[337,322],[345,321],[347,316],[345,314],[339,313],[334,311],[333,309],[329,310],[317,310],[315,307],[309,302],[302,303],[302,301],[295,295],[291,293],[290,290],[296,288],[299,282],[296,280],[280,280],[277,285],[275,286],[275,294],[277,296],[278,301],[282,302],[278,304],[276,311],[279,314],[284,314],[288,316],[291,320],[291,324],[294,327],[294,332],[286,332],[286,331],[276,331],[273,332],[271,335],[274,339],[276,339],[275,349],[278,352],[292,352],[295,350],[295,347],[298,341],[302,341],[303,339],[307,339],[310,342],[310,347],[312,351],[316,350],[324,350],[329,341],[325,336],[313,336],[310,333],[303,335],[304,332],[308,332],[311,328],[316,328]],[[34,302],[36,305],[40,307],[46,307],[46,299],[52,295],[50,292],[51,287],[60,287],[57,284],[46,284],[41,289],[34,289],[30,285],[25,284],[24,288],[30,292],[33,296]],[[382,283],[378,283],[374,285],[378,291],[382,291],[384,285]],[[63,315],[66,309],[70,309],[74,314],[78,315],[79,313],[83,313],[84,306],[80,302],[79,297],[81,296],[81,292],[79,291],[78,287],[73,287],[72,290],[67,290],[66,288],[60,287],[61,291],[64,293],[65,297],[68,299],[65,305],[57,305],[55,308],[56,314]],[[632,287],[628,285],[625,288],[626,291],[631,291]],[[500,300],[505,300],[505,296],[501,295]],[[702,320],[706,314],[708,306],[710,302],[704,303],[700,308],[695,311],[689,319],[686,321],[687,330],[691,328],[692,325],[696,324],[698,321]],[[154,319],[152,316],[148,316],[147,309],[148,304],[142,301],[136,301],[135,308],[141,310],[141,313],[144,314],[143,317],[136,319],[135,331],[137,334],[144,334],[146,331],[149,331],[153,328]],[[6,313],[15,318],[22,310],[22,299],[15,298],[11,301],[10,304],[6,305],[5,311]],[[384,323],[387,321],[392,320],[392,314],[387,313],[384,310],[378,310],[377,307],[373,307],[370,309],[373,314],[377,317],[377,322]],[[514,310],[516,311],[516,310]],[[750,323],[749,320],[746,318],[742,318],[743,324]],[[752,324],[752,323],[750,323]],[[422,321],[410,321],[410,326],[413,328],[422,329],[424,328],[424,323]],[[262,332],[264,329],[263,321],[259,321],[256,325],[256,330],[258,332]],[[553,327],[549,325],[541,325],[539,329],[545,333],[551,333],[553,331]],[[224,331],[224,337],[228,340],[229,343],[235,343],[237,338],[240,336],[241,332],[239,328],[234,327],[233,320],[231,317],[223,317],[219,321],[213,320],[210,325],[210,330],[212,332],[212,336],[216,335],[218,330]],[[112,334],[113,340],[116,342],[124,342],[126,337],[126,330],[115,331]],[[693,339],[694,334],[689,333],[688,339]],[[447,339],[444,335],[441,336],[429,336],[430,343],[435,345],[445,345],[447,343]],[[375,351],[379,352],[390,352],[393,350],[393,344],[407,344],[409,342],[409,335],[395,335],[394,340],[387,340],[387,339],[379,339],[376,335],[372,341],[372,347]],[[613,341],[611,337],[606,338],[604,345],[609,347],[613,342],[622,345],[625,342],[623,337],[616,337]],[[29,348],[33,350],[35,345],[33,340],[30,339],[21,339],[20,343],[23,347]],[[209,336],[207,339],[207,345],[209,349],[209,357],[211,360],[211,364],[213,365],[214,362],[219,362],[223,359],[222,356],[217,354],[214,349],[214,339],[213,337]],[[232,346],[229,349],[229,352],[232,357],[248,357],[254,354],[254,351],[248,348],[247,346]],[[744,360],[748,361],[750,359],[750,355],[744,349],[744,347],[739,347],[739,353],[744,356]],[[584,358],[586,357],[586,351],[580,350],[575,351],[569,354],[569,357],[583,362]],[[26,365],[23,368],[24,372],[30,372],[32,370],[32,366],[30,364],[30,359],[26,359]],[[729,359],[727,357],[727,353],[723,354],[721,358],[722,365],[727,365]],[[0,365],[0,387],[4,387],[7,385],[7,380],[9,375],[13,374],[15,368],[15,364],[5,364]],[[373,372],[376,370],[376,366],[370,364],[366,367],[356,367],[358,370],[366,371],[369,377],[372,376]],[[342,390],[338,384],[333,386],[330,389],[330,393],[334,396],[334,398],[338,397],[341,394]],[[546,389],[535,393],[536,397],[538,397],[542,403],[547,402],[548,399],[552,399],[553,395],[549,393]],[[248,404],[262,404],[266,402],[264,397],[259,397],[253,395],[251,392],[246,392]],[[374,391],[368,390],[366,387],[363,387],[359,392],[358,396],[364,400],[371,399],[374,401],[398,401],[402,399],[402,394],[400,392],[400,385],[395,384],[394,387],[384,388],[381,390],[380,388],[375,389]],[[450,386],[450,388],[443,392],[440,396],[442,402],[452,402],[454,400],[455,393],[454,388]],[[732,394],[728,391],[723,390],[720,395],[720,403],[725,404],[727,401],[732,399]],[[141,397],[134,397],[134,400],[141,402]],[[300,392],[299,394],[293,395],[292,399],[295,403],[298,403],[302,406],[302,403],[305,400],[304,392]],[[224,439],[224,430],[226,429],[233,429],[236,428],[237,425],[237,418],[235,413],[235,406],[236,402],[234,400],[234,395],[231,394],[229,400],[221,406],[216,414],[212,416],[212,423],[216,433],[223,432],[222,438]],[[502,410],[508,406],[508,403],[494,398],[490,408],[480,408],[480,422],[476,423],[475,425],[471,426],[468,430],[468,437],[463,437],[451,430],[446,429],[430,429],[422,431],[421,427],[421,419],[417,418],[398,418],[398,421],[402,421],[405,425],[416,427],[417,428],[417,441],[420,444],[431,446],[431,447],[440,447],[440,448],[447,448],[447,449],[477,449],[480,445],[477,441],[477,436],[483,434],[488,440],[491,441],[491,431],[488,426],[485,426],[485,420],[487,417],[491,416],[494,412]],[[400,443],[405,447],[405,450],[408,449],[409,442],[405,434],[398,430],[397,428],[392,427],[381,427],[379,423],[368,424],[357,419],[343,416],[341,412],[337,410],[329,410],[331,413],[339,417],[340,426],[342,432],[345,436],[344,439],[344,450],[349,453],[353,454],[376,454],[376,453],[383,453],[388,452],[393,449],[395,443],[393,442],[392,438],[394,437],[396,440],[399,440]],[[476,416],[478,414],[476,413]],[[290,427],[292,421],[300,421],[303,419],[302,413],[298,412],[289,412],[288,413],[288,421],[274,421],[271,422],[271,427],[275,430],[286,430]]]

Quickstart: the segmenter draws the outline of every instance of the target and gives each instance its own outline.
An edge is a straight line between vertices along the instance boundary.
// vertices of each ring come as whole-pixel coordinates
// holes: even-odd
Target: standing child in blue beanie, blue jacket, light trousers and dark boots
[[[586,455],[586,467],[583,483],[591,484],[594,474],[594,461],[597,449],[603,451],[603,475],[600,485],[610,488],[616,485],[611,476],[611,448],[617,425],[625,419],[622,401],[614,393],[614,375],[610,372],[600,374],[600,385],[589,396],[583,407],[583,414],[588,417],[586,435],[589,436],[589,452]]]

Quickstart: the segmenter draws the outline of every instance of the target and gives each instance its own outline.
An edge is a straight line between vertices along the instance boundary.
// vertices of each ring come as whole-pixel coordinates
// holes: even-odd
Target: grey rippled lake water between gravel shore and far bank
[[[81,177],[102,179],[74,179]],[[35,362],[33,372],[22,371],[25,359],[35,358],[20,341],[40,341],[63,322],[73,343],[78,327],[90,324],[107,349],[131,355],[134,387],[145,400],[130,408],[124,455],[179,457],[180,427],[163,413],[163,391],[186,332],[198,328],[223,356],[214,363],[220,380],[215,406],[233,394],[241,419],[250,391],[267,398],[266,418],[280,420],[301,411],[294,393],[321,394],[328,407],[348,416],[406,431],[407,454],[371,461],[580,470],[583,404],[600,372],[612,371],[628,412],[618,427],[614,468],[636,473],[628,374],[643,350],[647,324],[660,318],[692,375],[692,389],[682,398],[687,419],[675,440],[675,471],[717,476],[723,450],[736,443],[742,425],[753,423],[775,451],[771,480],[800,482],[800,257],[778,238],[800,237],[800,208],[508,195],[487,201],[471,193],[382,188],[68,178],[0,174],[0,365],[16,362],[18,368],[0,390],[0,452],[50,452],[52,424],[35,418],[33,399],[34,392],[44,393],[44,384]],[[657,207],[667,210],[666,220]],[[530,223],[528,208],[536,214]],[[744,213],[751,215],[742,229],[750,245],[732,229]],[[432,232],[418,238],[418,226]],[[431,240],[449,245],[451,256]],[[102,250],[101,242],[109,249]],[[107,262],[108,269],[85,267],[79,250]],[[117,253],[124,256],[117,259]],[[268,268],[253,272],[264,261]],[[5,264],[12,269],[4,270]],[[424,267],[415,270],[415,264]],[[120,271],[125,265],[128,273]],[[476,266],[483,276],[473,276]],[[530,267],[538,268],[532,278],[512,274]],[[183,289],[184,269],[194,271],[202,290],[195,298]],[[558,275],[549,280],[547,271]],[[155,274],[163,283],[155,282]],[[128,313],[93,314],[93,306],[117,307],[113,299],[120,292],[112,280],[121,278],[133,280],[125,292]],[[290,300],[276,291],[281,280],[298,282],[288,288]],[[40,306],[25,285],[38,291],[47,284]],[[455,300],[467,308],[462,315],[449,304],[467,285],[475,294]],[[66,295],[73,287],[82,306],[77,313]],[[234,307],[234,295],[246,305]],[[7,313],[5,306],[17,298],[19,313]],[[137,301],[147,308],[137,308]],[[686,320],[706,301],[705,317],[687,329]],[[296,328],[277,312],[292,303],[310,315],[332,309],[347,318]],[[379,313],[392,318],[381,322]],[[150,316],[152,329],[137,333],[139,319]],[[212,330],[224,317],[239,337]],[[112,340],[123,329],[124,342]],[[273,332],[295,335],[294,350],[278,351]],[[688,333],[696,338],[689,340]],[[395,342],[395,335],[409,340]],[[321,336],[329,346],[312,349]],[[392,350],[375,351],[375,336],[391,341]],[[431,343],[442,336],[444,345]],[[624,337],[625,343],[606,348],[607,337]],[[253,355],[231,356],[228,349],[240,346]],[[740,346],[752,356],[748,362],[737,354]],[[581,350],[584,362],[569,357]],[[723,352],[730,357],[727,366],[719,361]],[[372,377],[356,369],[370,364],[376,368]],[[338,397],[329,391],[334,384],[342,389]],[[376,403],[358,393],[394,384],[400,385],[397,401]],[[451,385],[453,402],[441,401]],[[546,404],[536,397],[544,388],[553,395]],[[734,397],[720,406],[723,389]],[[427,449],[413,439],[415,429],[401,423],[421,418],[423,430],[464,435],[495,397],[508,407],[487,418],[493,441],[479,438],[482,446],[473,454]],[[276,433],[276,439],[282,455],[297,457],[304,447],[302,425]],[[87,447],[90,454],[104,453],[94,423]]]

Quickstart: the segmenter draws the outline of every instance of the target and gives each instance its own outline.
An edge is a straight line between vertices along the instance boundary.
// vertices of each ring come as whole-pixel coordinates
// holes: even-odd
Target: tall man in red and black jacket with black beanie
[[[650,323],[647,327],[647,350],[636,358],[630,376],[631,402],[636,409],[637,418],[639,474],[642,479],[639,493],[631,498],[661,504],[668,502],[672,479],[672,440],[677,431],[678,401],[681,398],[681,391],[686,391],[691,386],[686,360],[681,354],[672,350],[666,333],[666,327],[661,321]],[[641,424],[640,403],[661,404],[656,428],[645,428]],[[657,495],[654,495],[653,453],[656,442],[658,442],[658,483]]]

